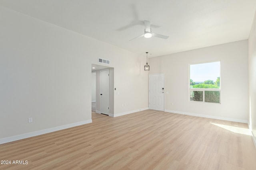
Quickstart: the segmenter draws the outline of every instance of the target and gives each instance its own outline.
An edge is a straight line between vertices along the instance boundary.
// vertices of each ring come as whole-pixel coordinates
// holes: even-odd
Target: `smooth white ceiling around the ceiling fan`
[[[256,0],[0,0],[0,5],[139,55],[248,39]],[[143,20],[168,39],[144,37]]]

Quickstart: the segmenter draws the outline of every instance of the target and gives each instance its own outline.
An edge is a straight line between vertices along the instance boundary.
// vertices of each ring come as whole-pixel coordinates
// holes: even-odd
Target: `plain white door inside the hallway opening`
[[[100,113],[109,114],[109,69],[100,70]]]

